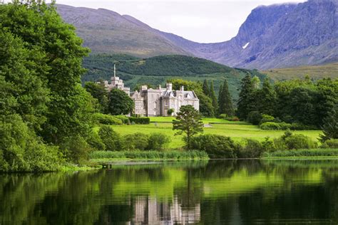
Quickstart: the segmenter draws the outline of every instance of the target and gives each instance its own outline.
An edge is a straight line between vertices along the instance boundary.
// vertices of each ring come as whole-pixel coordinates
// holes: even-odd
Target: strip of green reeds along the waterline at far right
[[[277,152],[265,152],[263,158],[292,158],[292,157],[338,157],[338,149],[312,149],[312,150],[283,150]]]

